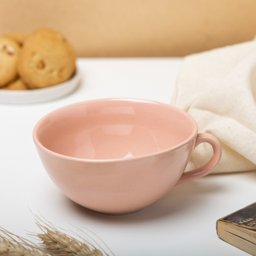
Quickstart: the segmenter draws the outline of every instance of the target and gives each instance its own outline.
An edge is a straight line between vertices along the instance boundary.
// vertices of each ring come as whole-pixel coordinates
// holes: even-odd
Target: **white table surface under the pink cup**
[[[218,238],[217,219],[256,201],[256,172],[214,174],[183,183],[145,210],[121,217],[79,206],[55,187],[37,155],[32,131],[50,111],[97,98],[170,103],[182,58],[79,59],[82,82],[61,99],[0,104],[0,226],[26,237],[34,213],[64,229],[86,227],[116,256],[248,255]],[[70,225],[71,224],[71,225]]]

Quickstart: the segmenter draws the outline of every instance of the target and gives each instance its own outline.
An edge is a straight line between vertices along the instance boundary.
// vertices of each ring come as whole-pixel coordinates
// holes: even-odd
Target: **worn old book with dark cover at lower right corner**
[[[223,241],[256,256],[256,202],[217,220],[216,229]]]

